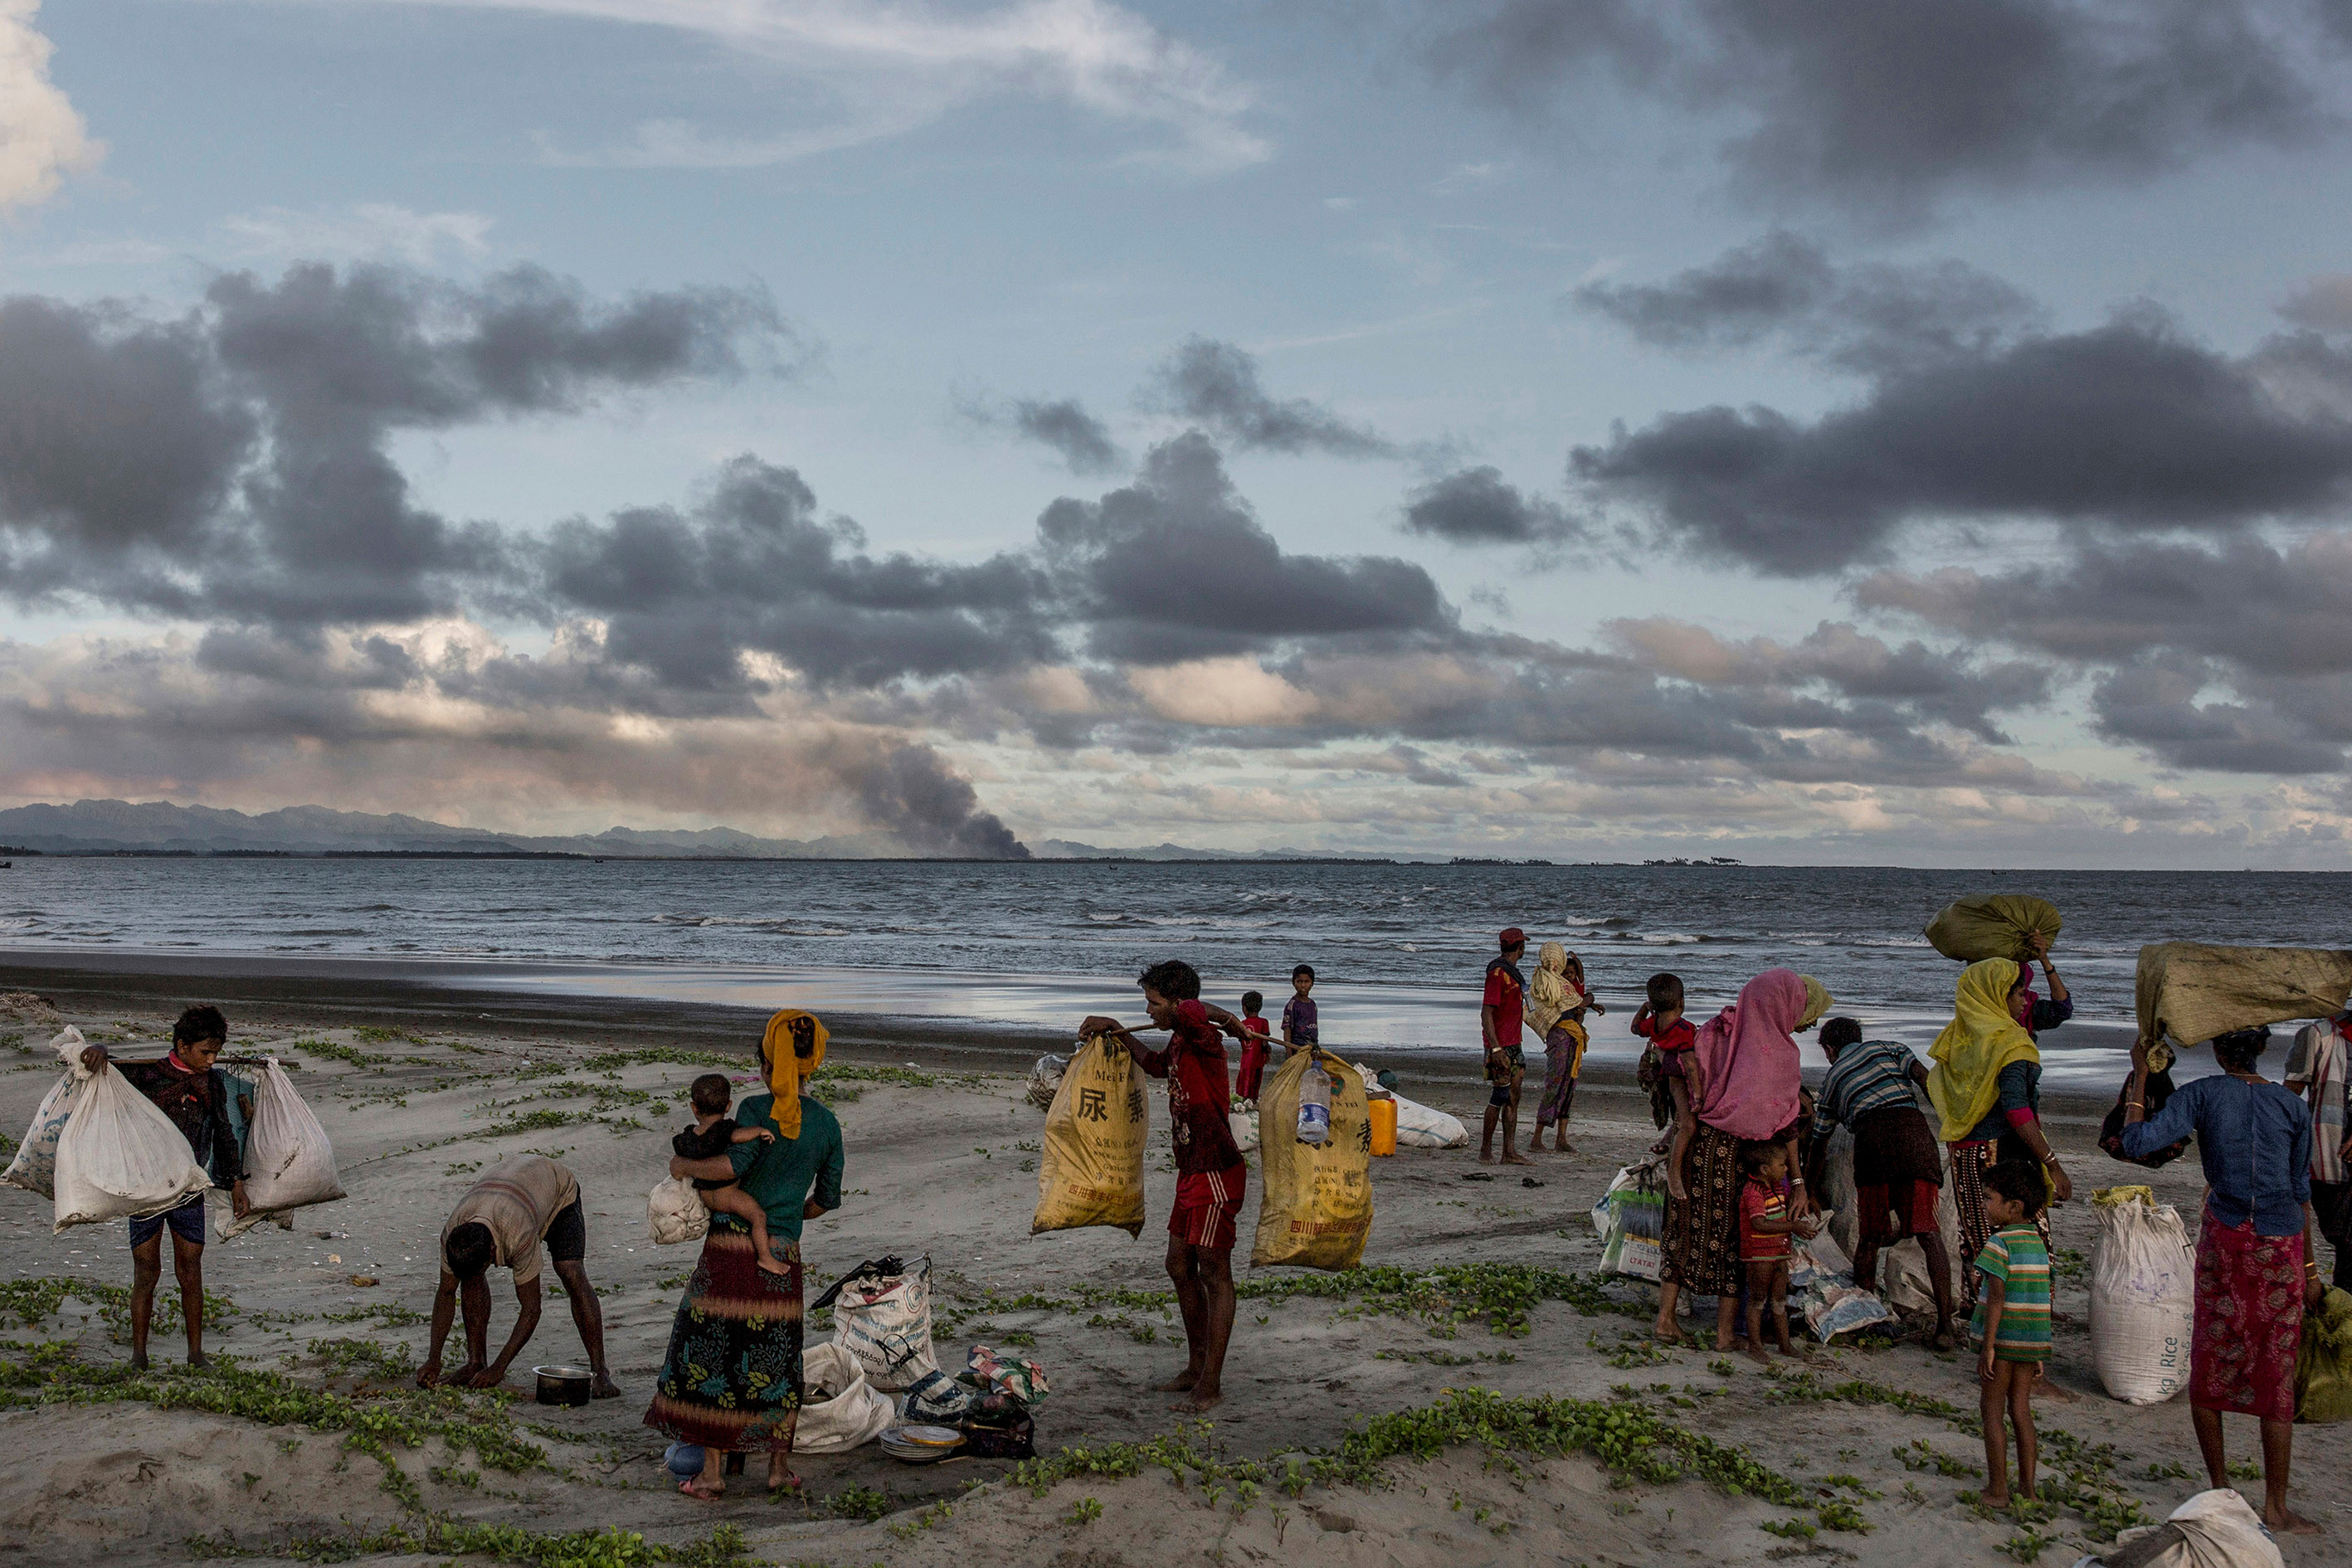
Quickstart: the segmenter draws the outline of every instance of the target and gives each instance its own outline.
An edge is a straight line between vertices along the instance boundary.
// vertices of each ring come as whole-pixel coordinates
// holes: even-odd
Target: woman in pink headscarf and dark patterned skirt
[[[1795,969],[1766,969],[1740,999],[1698,1025],[1696,1119],[1691,1152],[1668,1171],[1665,1262],[1658,1324],[1663,1340],[1682,1340],[1675,1300],[1682,1291],[1715,1295],[1715,1349],[1731,1349],[1740,1305],[1740,1143],[1788,1145],[1797,1159],[1797,1091],[1804,1086],[1797,1030],[1828,1009],[1830,997]],[[1792,1178],[1792,1213],[1813,1213],[1804,1178]]]

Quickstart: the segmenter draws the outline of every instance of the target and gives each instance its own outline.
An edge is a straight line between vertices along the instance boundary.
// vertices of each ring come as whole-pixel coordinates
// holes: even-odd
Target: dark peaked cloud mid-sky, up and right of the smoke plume
[[[1037,541],[1103,658],[1174,663],[1454,625],[1414,562],[1284,552],[1197,430],[1152,447],[1134,484],[1049,505]]]

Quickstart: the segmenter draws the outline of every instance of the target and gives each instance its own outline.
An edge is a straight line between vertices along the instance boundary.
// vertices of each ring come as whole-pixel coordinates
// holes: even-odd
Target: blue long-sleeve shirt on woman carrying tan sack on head
[[[2303,1206],[2312,1201],[2312,1110],[2303,1095],[2230,1074],[2194,1079],[2154,1117],[2124,1128],[2124,1154],[2138,1159],[2190,1133],[2216,1220],[2251,1218],[2263,1237],[2303,1234]]]

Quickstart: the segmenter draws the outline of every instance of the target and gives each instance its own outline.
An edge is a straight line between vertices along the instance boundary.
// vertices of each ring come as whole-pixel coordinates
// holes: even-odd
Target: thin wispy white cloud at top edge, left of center
[[[1101,0],[1018,0],[950,12],[873,0],[400,0],[522,9],[677,28],[828,85],[835,120],[779,136],[713,141],[677,120],[562,162],[753,167],[896,136],[967,103],[1033,96],[1105,120],[1162,127],[1176,146],[1129,155],[1214,174],[1270,155],[1247,118],[1256,92],[1197,47]]]

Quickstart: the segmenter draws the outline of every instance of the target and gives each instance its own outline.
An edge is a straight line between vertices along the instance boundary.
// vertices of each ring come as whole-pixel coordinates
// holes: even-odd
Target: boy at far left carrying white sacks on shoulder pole
[[[172,1053],[160,1063],[115,1063],[122,1081],[155,1103],[188,1140],[195,1164],[242,1220],[245,1154],[228,1124],[228,1074],[212,1063],[228,1044],[228,1020],[216,1006],[191,1006],[172,1025]],[[82,1067],[106,1072],[106,1046],[82,1051]],[[205,1366],[205,1194],[169,1213],[132,1220],[132,1366],[146,1366],[148,1319],[155,1316],[155,1281],[162,1279],[162,1232],[172,1227],[172,1276],[179,1279],[181,1319],[188,1326],[188,1366]]]

